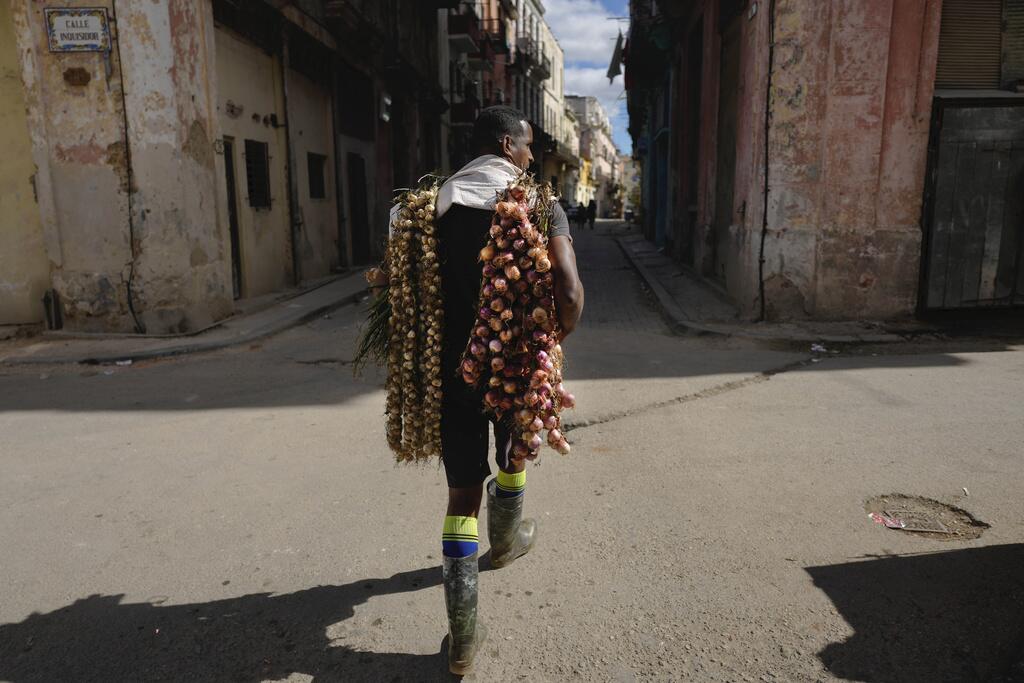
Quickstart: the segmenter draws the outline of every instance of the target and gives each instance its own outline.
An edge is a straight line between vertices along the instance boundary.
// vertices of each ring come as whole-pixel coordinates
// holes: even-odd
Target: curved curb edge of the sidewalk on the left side
[[[348,294],[340,299],[326,303],[324,305],[317,306],[311,310],[305,311],[302,315],[298,317],[291,318],[288,321],[283,321],[280,323],[271,323],[265,325],[262,328],[257,328],[251,332],[247,332],[238,337],[231,337],[229,339],[221,339],[216,341],[198,341],[194,344],[186,344],[183,346],[175,346],[171,348],[155,348],[146,349],[144,351],[127,351],[124,353],[117,354],[106,354],[106,355],[92,355],[84,356],[80,358],[45,358],[45,357],[35,357],[35,358],[7,358],[0,359],[0,367],[18,367],[18,366],[72,366],[72,365],[85,365],[85,366],[108,366],[115,365],[118,361],[124,360],[153,360],[155,358],[170,358],[179,355],[189,355],[193,353],[206,353],[208,351],[219,351],[225,348],[230,348],[231,346],[239,346],[242,344],[247,344],[259,339],[265,339],[266,337],[272,337],[273,335],[281,334],[286,330],[291,328],[304,325],[309,321],[319,317],[326,313],[335,311],[343,306],[347,306],[352,303],[356,303],[361,299],[368,292],[369,288],[364,288]]]

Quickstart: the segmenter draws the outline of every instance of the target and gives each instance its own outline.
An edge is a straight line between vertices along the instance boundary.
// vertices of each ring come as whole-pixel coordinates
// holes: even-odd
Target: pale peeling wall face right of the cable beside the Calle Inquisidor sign
[[[148,332],[201,329],[232,310],[230,262],[217,224],[211,5],[117,5],[139,314]]]

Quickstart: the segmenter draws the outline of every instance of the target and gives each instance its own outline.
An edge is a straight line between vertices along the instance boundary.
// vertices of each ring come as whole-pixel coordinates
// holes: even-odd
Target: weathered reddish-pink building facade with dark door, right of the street
[[[1024,303],[1011,190],[1024,3],[633,0],[631,13],[644,230],[744,316]],[[978,173],[991,184],[972,186]]]

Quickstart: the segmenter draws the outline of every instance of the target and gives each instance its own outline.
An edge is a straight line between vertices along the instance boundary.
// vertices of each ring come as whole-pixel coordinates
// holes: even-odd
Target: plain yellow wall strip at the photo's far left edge
[[[0,325],[43,319],[50,264],[32,189],[25,89],[9,2],[0,2]]]

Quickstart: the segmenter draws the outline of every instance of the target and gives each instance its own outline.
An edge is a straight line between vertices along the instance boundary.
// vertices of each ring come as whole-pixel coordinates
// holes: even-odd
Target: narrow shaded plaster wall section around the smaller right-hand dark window
[[[294,132],[293,152],[302,216],[299,254],[305,280],[323,278],[338,266],[338,205],[334,183],[334,144],[331,139],[331,93],[301,74],[289,78],[289,125]],[[327,157],[324,170],[326,199],[309,197],[308,153]]]

